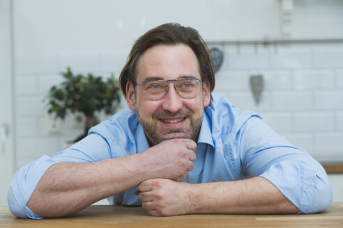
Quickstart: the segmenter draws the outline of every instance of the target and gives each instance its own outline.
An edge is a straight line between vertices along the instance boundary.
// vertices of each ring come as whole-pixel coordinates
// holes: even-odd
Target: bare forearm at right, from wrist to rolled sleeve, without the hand
[[[242,181],[194,184],[190,213],[298,213],[280,190],[262,177]]]

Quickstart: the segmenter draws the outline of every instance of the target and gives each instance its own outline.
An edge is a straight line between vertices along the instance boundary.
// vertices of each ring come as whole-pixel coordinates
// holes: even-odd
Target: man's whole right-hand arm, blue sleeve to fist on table
[[[183,209],[190,213],[316,213],[330,206],[330,181],[314,158],[292,146],[257,118],[246,122],[240,134],[233,150],[239,152],[234,154],[237,163],[229,165],[236,165],[236,170],[241,170],[245,177],[253,178],[192,185],[144,181],[139,185],[143,206],[154,215],[156,211],[162,211],[162,215],[170,211],[183,213]],[[174,190],[168,192],[169,188]],[[169,195],[175,202],[169,201]]]

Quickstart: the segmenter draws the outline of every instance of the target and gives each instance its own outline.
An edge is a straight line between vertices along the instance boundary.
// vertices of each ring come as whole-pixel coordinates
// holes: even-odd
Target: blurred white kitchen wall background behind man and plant
[[[321,163],[343,163],[342,0],[0,0],[0,206],[18,168],[84,130],[83,115],[47,114],[60,73],[118,77],[133,42],[166,22],[213,50],[215,92]],[[343,174],[330,180],[343,201]]]

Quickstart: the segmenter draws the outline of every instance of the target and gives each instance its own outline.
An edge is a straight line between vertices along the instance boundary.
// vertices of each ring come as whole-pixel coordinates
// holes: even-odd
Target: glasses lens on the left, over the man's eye
[[[167,81],[148,81],[143,84],[143,95],[151,101],[158,101],[165,96]]]

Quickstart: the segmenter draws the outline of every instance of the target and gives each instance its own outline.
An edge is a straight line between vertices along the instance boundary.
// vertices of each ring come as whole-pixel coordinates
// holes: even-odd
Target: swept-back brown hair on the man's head
[[[215,86],[215,77],[212,64],[211,52],[197,30],[190,27],[184,27],[180,24],[168,23],[162,24],[155,29],[151,29],[142,35],[130,51],[128,60],[126,61],[123,70],[119,76],[121,92],[126,97],[126,83],[136,83],[136,67],[139,57],[144,54],[144,51],[157,44],[185,44],[188,45],[199,61],[201,81],[210,83],[210,91],[212,92]]]

